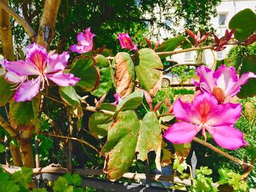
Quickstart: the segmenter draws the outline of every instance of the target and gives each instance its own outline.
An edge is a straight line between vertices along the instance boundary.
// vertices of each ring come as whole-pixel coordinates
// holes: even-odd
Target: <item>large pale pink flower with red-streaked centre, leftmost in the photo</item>
[[[60,86],[75,85],[79,78],[63,72],[68,58],[67,52],[61,55],[47,53],[44,47],[34,43],[26,50],[26,61],[4,61],[4,67],[9,71],[7,80],[20,84],[14,95],[15,101],[31,100],[39,92],[41,82],[42,91],[45,82],[49,85],[48,80]],[[33,76],[33,79],[27,80],[29,76]]]

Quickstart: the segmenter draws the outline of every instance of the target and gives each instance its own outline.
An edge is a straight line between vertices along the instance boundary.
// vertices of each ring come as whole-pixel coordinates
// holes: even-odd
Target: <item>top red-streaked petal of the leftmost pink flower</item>
[[[45,69],[47,59],[47,50],[36,43],[30,45],[26,50],[26,63],[34,65],[34,67],[39,71],[43,71],[43,69]]]

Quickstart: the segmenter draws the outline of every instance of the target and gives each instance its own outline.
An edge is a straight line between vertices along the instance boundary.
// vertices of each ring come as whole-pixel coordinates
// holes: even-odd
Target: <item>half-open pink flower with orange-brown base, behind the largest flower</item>
[[[200,83],[195,85],[200,87],[201,91],[206,91],[215,96],[219,102],[227,102],[231,97],[236,96],[240,91],[241,85],[244,85],[249,78],[256,78],[252,72],[242,74],[238,78],[238,74],[233,66],[219,66],[215,72],[206,66],[197,68],[197,74],[200,77]]]

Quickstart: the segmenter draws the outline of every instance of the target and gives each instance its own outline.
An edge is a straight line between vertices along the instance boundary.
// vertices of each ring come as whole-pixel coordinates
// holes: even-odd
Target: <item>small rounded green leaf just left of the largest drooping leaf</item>
[[[99,139],[106,137],[108,134],[108,128],[113,123],[113,117],[106,115],[102,112],[94,112],[89,118],[89,131],[94,137]]]

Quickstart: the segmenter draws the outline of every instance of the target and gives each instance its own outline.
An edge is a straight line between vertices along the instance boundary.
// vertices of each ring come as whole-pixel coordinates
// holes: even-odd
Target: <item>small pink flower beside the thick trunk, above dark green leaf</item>
[[[93,38],[95,36],[95,34],[91,33],[91,28],[86,28],[84,34],[80,32],[77,36],[78,45],[71,45],[69,50],[80,54],[89,52],[94,46]]]

